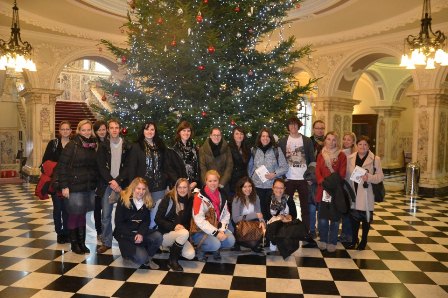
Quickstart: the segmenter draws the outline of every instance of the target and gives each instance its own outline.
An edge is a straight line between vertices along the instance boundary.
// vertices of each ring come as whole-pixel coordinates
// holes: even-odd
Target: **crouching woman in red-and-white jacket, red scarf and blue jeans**
[[[230,212],[227,199],[219,189],[220,175],[215,170],[205,174],[205,186],[194,196],[193,222],[190,227],[199,261],[207,261],[206,252],[212,252],[215,260],[221,260],[219,250],[235,244],[235,237],[227,229]]]

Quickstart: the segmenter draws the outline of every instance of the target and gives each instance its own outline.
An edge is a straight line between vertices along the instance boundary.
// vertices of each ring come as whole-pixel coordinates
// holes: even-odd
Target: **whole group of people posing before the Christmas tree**
[[[315,122],[313,128],[320,124],[323,122]],[[336,133],[310,139],[298,132],[301,125],[296,117],[288,119],[289,135],[278,145],[271,131],[262,128],[252,149],[242,127],[233,129],[229,143],[214,127],[198,148],[192,141],[191,124],[182,121],[174,145],[168,148],[154,122],[144,123],[137,142],[130,144],[120,136],[118,120],[93,125],[82,120],[73,137],[70,123],[63,121],[60,136],[49,142],[42,161],[57,162],[53,180],[59,191],[52,194],[57,240],[69,241],[77,254],[89,253],[86,213],[96,210],[95,225],[102,242],[97,253],[110,249],[114,237],[124,258],[157,269],[152,257],[160,246],[170,247],[169,266],[182,271],[178,263],[181,255],[205,261],[208,252],[220,259],[221,248],[238,250],[231,227],[241,220],[258,221],[259,228],[265,230],[273,217],[285,223],[296,219],[293,195],[297,191],[301,219],[309,233],[308,247],[316,246],[312,236],[318,210],[319,248],[334,251],[341,218],[345,219],[343,231],[347,223],[353,228],[346,232],[347,237],[356,235],[351,246],[357,245],[356,228],[363,221],[358,249],[365,248],[373,212],[369,183],[382,179],[379,158],[369,151],[368,139],[362,137],[356,142],[357,152],[347,161]],[[322,152],[318,153],[321,145]],[[316,155],[313,181],[307,177]],[[376,173],[371,169],[373,160]],[[324,212],[332,202],[328,193],[322,195],[323,181],[333,172],[346,179],[356,165],[368,170],[362,187],[352,183],[356,199],[351,209],[360,211],[358,220],[349,212]],[[261,251],[261,247],[252,249]]]

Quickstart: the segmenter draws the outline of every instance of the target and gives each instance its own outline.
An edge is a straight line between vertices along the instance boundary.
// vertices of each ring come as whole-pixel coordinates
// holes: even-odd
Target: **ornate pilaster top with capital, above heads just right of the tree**
[[[342,97],[317,97],[312,100],[313,121],[325,122],[326,131],[334,130],[339,136],[346,131],[352,131],[353,107],[360,100]]]

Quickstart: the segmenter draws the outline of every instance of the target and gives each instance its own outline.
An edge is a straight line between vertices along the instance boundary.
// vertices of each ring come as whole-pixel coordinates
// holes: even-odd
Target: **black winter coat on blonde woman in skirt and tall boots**
[[[60,189],[68,187],[71,193],[92,191],[98,185],[95,148],[84,148],[81,138],[77,135],[65,146],[57,166]]]

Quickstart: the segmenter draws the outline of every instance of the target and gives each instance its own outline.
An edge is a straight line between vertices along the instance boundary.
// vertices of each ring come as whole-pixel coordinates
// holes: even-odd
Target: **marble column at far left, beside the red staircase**
[[[55,137],[56,97],[62,90],[32,88],[24,89],[19,96],[25,98],[26,106],[26,165],[25,174],[38,176],[45,147]]]

